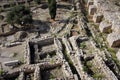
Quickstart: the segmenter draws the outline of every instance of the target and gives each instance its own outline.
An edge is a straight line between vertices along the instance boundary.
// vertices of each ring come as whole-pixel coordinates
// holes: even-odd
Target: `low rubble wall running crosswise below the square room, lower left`
[[[33,73],[36,69],[36,66],[39,66],[41,70],[45,70],[45,69],[53,69],[61,65],[62,65],[62,62],[60,61],[56,61],[55,63],[44,62],[44,63],[38,63],[38,64],[24,65],[19,69],[14,69],[6,73],[4,77],[8,77],[8,78],[15,77],[19,75],[20,72]]]

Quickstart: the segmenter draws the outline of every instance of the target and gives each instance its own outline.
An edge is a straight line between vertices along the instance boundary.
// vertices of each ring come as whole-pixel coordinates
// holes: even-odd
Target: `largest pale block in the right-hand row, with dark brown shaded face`
[[[107,41],[111,47],[119,47],[120,46],[120,34],[119,33],[110,33],[107,36]]]

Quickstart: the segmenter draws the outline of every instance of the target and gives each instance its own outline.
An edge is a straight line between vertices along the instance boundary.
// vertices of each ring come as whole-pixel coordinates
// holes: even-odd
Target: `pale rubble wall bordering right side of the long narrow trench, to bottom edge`
[[[74,63],[74,66],[76,67],[76,70],[78,71],[80,77],[82,80],[94,80],[92,77],[90,77],[86,72],[83,71],[83,64],[81,62],[81,57],[83,56],[82,50],[80,50],[76,43],[76,36],[72,36],[69,38],[70,43],[75,50],[74,57],[71,57],[71,60]]]

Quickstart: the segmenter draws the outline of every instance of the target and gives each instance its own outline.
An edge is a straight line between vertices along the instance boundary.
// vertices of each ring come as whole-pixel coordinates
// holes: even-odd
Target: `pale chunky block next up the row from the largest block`
[[[100,23],[99,25],[99,29],[101,32],[103,33],[107,33],[107,32],[110,32],[111,30],[111,27],[112,27],[112,24],[110,24],[108,21],[104,20]]]

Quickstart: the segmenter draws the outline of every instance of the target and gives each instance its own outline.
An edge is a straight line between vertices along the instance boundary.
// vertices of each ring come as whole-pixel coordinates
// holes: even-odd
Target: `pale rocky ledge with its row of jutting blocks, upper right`
[[[107,41],[111,47],[120,46],[120,8],[108,0],[88,0],[89,15],[95,23],[100,23],[101,32],[108,34]],[[112,32],[112,33],[111,33]]]

